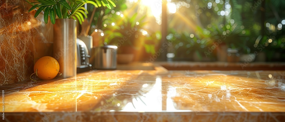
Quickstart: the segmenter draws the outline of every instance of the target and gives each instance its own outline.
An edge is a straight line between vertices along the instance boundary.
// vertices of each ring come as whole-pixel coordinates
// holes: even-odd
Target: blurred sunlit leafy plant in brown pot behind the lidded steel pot
[[[131,17],[121,17],[114,13],[111,18],[104,19],[102,21],[108,21],[108,23],[105,23],[108,28],[101,28],[103,31],[100,33],[104,34],[104,36],[101,37],[103,38],[101,40],[104,40],[105,44],[115,45],[118,47],[118,63],[131,63],[133,60],[141,60],[139,54],[142,53],[144,48],[147,48],[145,51],[148,51],[149,53],[151,53],[150,50],[153,50],[150,49],[153,46],[149,46],[149,44],[145,43],[147,37],[151,34],[148,33],[150,32],[149,30],[144,28],[145,23],[142,22],[144,17],[139,20],[136,20],[136,18],[137,14],[134,14]],[[122,20],[119,21],[119,19]],[[97,25],[97,27],[98,26],[100,25]],[[96,33],[97,32],[94,31],[91,35]],[[102,42],[100,44],[102,44]]]

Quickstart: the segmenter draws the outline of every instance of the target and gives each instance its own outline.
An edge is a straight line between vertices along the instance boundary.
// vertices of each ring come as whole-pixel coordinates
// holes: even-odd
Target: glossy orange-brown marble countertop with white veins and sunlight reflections
[[[149,67],[147,63],[136,64]],[[285,71],[97,70],[0,86],[9,121],[284,121]]]

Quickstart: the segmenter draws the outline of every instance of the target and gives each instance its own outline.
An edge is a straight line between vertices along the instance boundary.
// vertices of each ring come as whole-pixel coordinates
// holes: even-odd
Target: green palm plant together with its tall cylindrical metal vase
[[[34,17],[43,12],[44,22],[48,23],[49,16],[50,22],[54,24],[53,57],[59,62],[62,77],[75,76],[76,20],[82,24],[88,13],[83,5],[89,3],[98,7],[99,4],[103,4],[110,9],[109,3],[114,3],[107,0],[95,0],[95,2],[90,0],[36,0],[27,2],[33,5],[28,12],[36,9]]]

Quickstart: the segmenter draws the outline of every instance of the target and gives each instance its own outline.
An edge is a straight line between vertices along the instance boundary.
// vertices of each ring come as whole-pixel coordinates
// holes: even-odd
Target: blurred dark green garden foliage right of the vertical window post
[[[193,53],[203,57],[207,47],[219,39],[229,48],[239,49],[240,53],[259,52],[257,46],[265,45],[262,52],[266,53],[268,61],[272,61],[274,53],[281,53],[279,60],[285,58],[282,54],[285,51],[284,23],[282,28],[278,28],[278,24],[280,25],[285,19],[285,1],[172,0],[172,2],[176,5],[190,4],[189,8],[182,6],[175,14],[168,14],[169,25],[172,25],[168,29],[168,36],[177,35],[175,39],[168,38],[168,42],[173,41],[174,50],[170,52],[174,52],[179,59],[185,57],[187,60],[186,57]],[[179,19],[180,16],[186,18],[188,22]],[[194,27],[191,28],[187,23],[191,23]],[[266,23],[270,26],[266,26]],[[188,28],[185,29],[184,26]],[[194,34],[194,37],[191,38],[190,34]],[[262,38],[258,40],[260,36]],[[268,42],[269,39],[273,41]],[[215,53],[210,57],[215,58]]]

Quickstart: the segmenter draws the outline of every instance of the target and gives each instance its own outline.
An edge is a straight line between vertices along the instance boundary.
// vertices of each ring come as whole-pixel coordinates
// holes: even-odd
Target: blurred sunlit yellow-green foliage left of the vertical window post
[[[130,15],[125,11],[128,8],[125,2],[125,0],[117,1],[116,7],[111,9],[105,7],[96,9],[89,34],[95,29],[100,29],[104,32],[104,42],[107,44],[119,47],[129,46],[134,50],[144,47],[146,53],[154,54],[155,47],[161,40],[161,32],[152,32],[144,28],[147,23],[144,22],[145,16],[139,18],[137,13]],[[89,8],[89,11],[94,9],[92,6]],[[128,14],[124,15],[124,12]],[[147,34],[143,34],[143,31]]]

